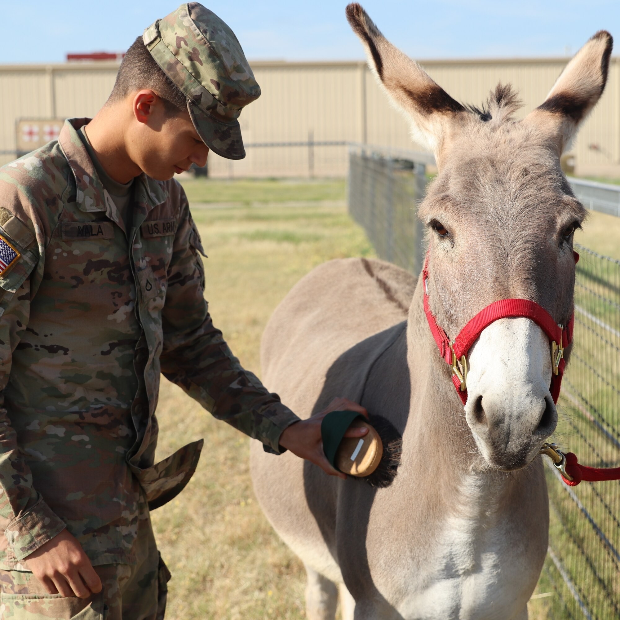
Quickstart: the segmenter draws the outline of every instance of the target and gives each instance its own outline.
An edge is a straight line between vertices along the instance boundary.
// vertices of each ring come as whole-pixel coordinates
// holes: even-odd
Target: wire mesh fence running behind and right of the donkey
[[[354,146],[348,208],[384,260],[419,273],[425,252],[417,205],[428,154]],[[614,214],[620,187],[573,183],[585,206]],[[601,186],[602,187],[597,187]],[[600,191],[598,191],[600,190]],[[587,199],[586,199],[587,198]],[[620,466],[620,261],[578,246],[575,345],[553,441],[580,463]],[[548,459],[545,459],[547,461]],[[549,464],[549,463],[547,463]],[[620,618],[620,482],[567,487],[547,468],[549,553],[539,582],[546,618]],[[545,596],[546,595],[546,596]]]

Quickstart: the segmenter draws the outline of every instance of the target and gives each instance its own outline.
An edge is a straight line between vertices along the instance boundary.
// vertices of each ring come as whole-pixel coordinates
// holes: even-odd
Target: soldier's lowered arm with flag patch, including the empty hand
[[[99,577],[78,540],[33,486],[32,472],[11,425],[11,417],[19,413],[9,411],[4,402],[13,352],[28,327],[30,301],[43,277],[53,212],[60,205],[58,194],[44,188],[49,217],[40,218],[27,195],[41,166],[30,162],[29,173],[24,162],[19,162],[19,166],[14,162],[12,168],[0,169],[0,236],[20,254],[10,268],[0,265],[0,518],[8,523],[4,535],[9,557],[23,562],[18,567],[32,570],[50,594],[86,598],[91,591],[100,591]],[[30,456],[45,458],[43,454]]]

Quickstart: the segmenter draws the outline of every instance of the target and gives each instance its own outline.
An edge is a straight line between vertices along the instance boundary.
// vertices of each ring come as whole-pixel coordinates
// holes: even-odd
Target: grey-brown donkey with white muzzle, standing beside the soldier
[[[343,396],[386,418],[402,437],[401,464],[373,487],[252,447],[255,493],[303,560],[310,620],[334,619],[339,593],[344,620],[523,620],[547,551],[538,454],[557,422],[549,339],[525,317],[492,322],[467,355],[463,407],[424,297],[453,338],[507,298],[566,325],[572,237],[586,212],[560,155],[603,92],[612,38],[596,33],[544,103],[515,120],[510,87],[482,108],[461,105],[358,4],[347,17],[379,84],[435,153],[419,207],[428,274],[367,259],[317,267],[265,329],[263,379],[302,417]]]

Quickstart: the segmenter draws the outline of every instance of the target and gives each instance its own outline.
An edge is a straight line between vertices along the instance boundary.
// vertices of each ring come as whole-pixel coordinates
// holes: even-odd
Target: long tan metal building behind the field
[[[428,60],[422,64],[464,103],[479,105],[498,82],[511,83],[525,103],[521,110],[525,115],[544,100],[567,60]],[[252,67],[263,94],[241,115],[246,159],[231,162],[211,154],[213,176],[344,175],[347,147],[324,142],[420,149],[365,63],[255,62]],[[42,120],[20,125],[19,139],[35,148],[53,133],[51,119],[94,115],[112,90],[117,69],[118,64],[104,62],[0,66],[0,163],[15,157],[20,119]],[[620,177],[619,123],[620,58],[612,58],[606,91],[572,146],[576,174]],[[291,142],[298,146],[273,146]],[[20,146],[25,148],[23,143]]]

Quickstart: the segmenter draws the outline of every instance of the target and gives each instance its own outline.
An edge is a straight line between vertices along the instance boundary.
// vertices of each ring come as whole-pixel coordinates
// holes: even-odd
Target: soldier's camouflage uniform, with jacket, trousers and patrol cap
[[[170,32],[175,20],[177,58],[190,58],[194,81],[217,82],[211,99],[191,91],[195,126],[214,151],[242,156],[236,117],[248,92],[260,90],[241,47],[197,3],[164,20]],[[158,47],[156,24],[144,38]],[[213,107],[219,92],[228,99]],[[0,169],[0,618],[56,617],[37,611],[43,603],[34,615],[15,610],[42,591],[22,560],[65,527],[108,579],[110,565],[133,567],[145,596],[147,582],[164,591],[167,569],[157,569],[154,542],[144,542],[149,509],[185,487],[202,441],[154,464],[161,373],[275,453],[298,420],[213,326],[205,254],[180,185],[136,177],[127,230],[78,135],[87,121],[68,120],[57,141]],[[139,576],[146,565],[150,581]],[[122,588],[119,577],[112,589]]]

